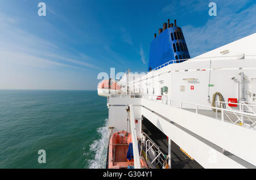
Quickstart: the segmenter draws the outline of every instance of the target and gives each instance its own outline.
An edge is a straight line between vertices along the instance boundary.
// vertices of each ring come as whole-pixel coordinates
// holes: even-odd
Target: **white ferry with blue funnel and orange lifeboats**
[[[109,110],[106,168],[255,168],[255,54],[256,33],[191,58],[168,19],[146,73],[98,85]]]

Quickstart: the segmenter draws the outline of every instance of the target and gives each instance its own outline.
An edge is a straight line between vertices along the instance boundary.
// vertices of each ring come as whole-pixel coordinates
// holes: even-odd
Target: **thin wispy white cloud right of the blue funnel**
[[[203,26],[183,27],[191,57],[255,33],[256,5],[240,10],[244,5],[244,2],[228,3],[222,6],[217,16],[209,18]],[[238,10],[240,12],[237,12]]]

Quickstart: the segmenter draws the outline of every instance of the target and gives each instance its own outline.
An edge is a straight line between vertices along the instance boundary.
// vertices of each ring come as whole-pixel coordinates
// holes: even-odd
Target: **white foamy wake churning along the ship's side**
[[[94,159],[89,160],[90,169],[103,169],[106,166],[106,155],[108,151],[108,119],[105,126],[97,129],[100,139],[94,140],[90,145],[90,151],[95,153]]]

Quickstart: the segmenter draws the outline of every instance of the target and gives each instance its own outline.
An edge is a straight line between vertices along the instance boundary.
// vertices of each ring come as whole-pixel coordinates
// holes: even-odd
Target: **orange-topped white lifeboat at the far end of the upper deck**
[[[98,95],[107,97],[110,93],[121,93],[121,85],[117,84],[113,79],[102,80],[98,83]]]

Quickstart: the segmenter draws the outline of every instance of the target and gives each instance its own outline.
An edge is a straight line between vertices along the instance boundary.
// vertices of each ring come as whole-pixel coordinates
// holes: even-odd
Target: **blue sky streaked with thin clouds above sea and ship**
[[[217,16],[208,15],[209,2]],[[256,2],[1,0],[0,89],[97,89],[98,73],[111,67],[145,71],[168,18],[195,57],[256,32]]]

